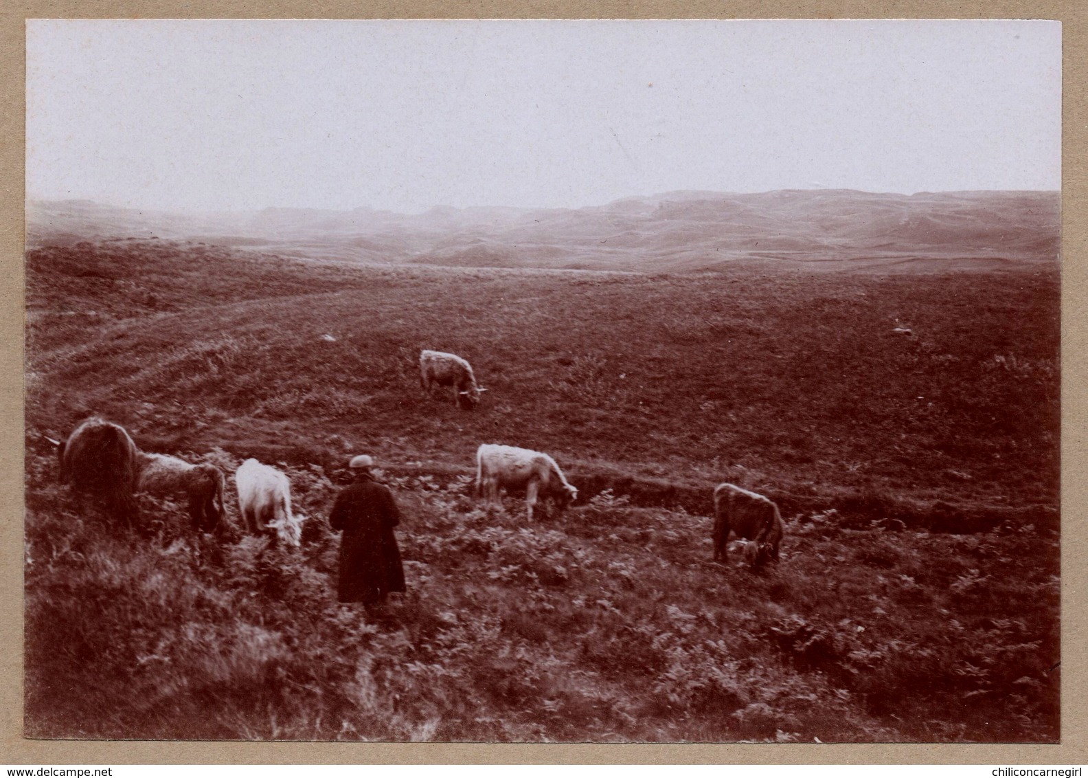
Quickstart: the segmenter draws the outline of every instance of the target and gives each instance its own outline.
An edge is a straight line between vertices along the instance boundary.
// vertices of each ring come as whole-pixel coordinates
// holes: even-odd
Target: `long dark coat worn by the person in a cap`
[[[390,487],[369,477],[358,480],[336,495],[329,523],[343,530],[339,582],[342,603],[376,603],[388,592],[405,591],[405,571],[393,528],[400,511]]]

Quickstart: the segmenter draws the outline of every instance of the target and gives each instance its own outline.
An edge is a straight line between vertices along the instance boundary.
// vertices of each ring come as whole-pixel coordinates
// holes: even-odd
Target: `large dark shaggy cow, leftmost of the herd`
[[[57,447],[61,481],[74,492],[91,494],[128,526],[136,508],[136,444],[125,428],[91,417]]]

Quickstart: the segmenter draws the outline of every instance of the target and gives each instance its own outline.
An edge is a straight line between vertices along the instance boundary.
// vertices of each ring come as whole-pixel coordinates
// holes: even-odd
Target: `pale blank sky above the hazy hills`
[[[582,207],[1058,189],[1061,25],[27,22],[27,196]]]

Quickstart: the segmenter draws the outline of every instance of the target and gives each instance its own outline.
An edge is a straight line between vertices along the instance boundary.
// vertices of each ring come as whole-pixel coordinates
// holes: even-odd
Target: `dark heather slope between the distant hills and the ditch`
[[[187,406],[189,435],[209,444],[245,420],[270,440],[323,429],[449,464],[502,440],[682,480],[741,465],[809,489],[864,474],[918,496],[954,485],[1050,502],[1056,277],[1013,277],[374,269],[162,242],[44,249],[28,257],[28,368],[51,391],[32,398],[62,425],[100,410],[137,432],[154,425],[141,404]],[[422,348],[473,363],[491,388],[485,412],[420,394]],[[1009,471],[1024,458],[1038,467]]]

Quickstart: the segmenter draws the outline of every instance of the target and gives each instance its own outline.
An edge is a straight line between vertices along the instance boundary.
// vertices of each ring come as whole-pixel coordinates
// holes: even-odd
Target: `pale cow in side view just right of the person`
[[[562,470],[547,454],[528,448],[484,443],[477,449],[477,495],[498,502],[499,487],[524,490],[529,520],[537,497],[552,497],[565,510],[578,497],[578,490],[564,478]]]

